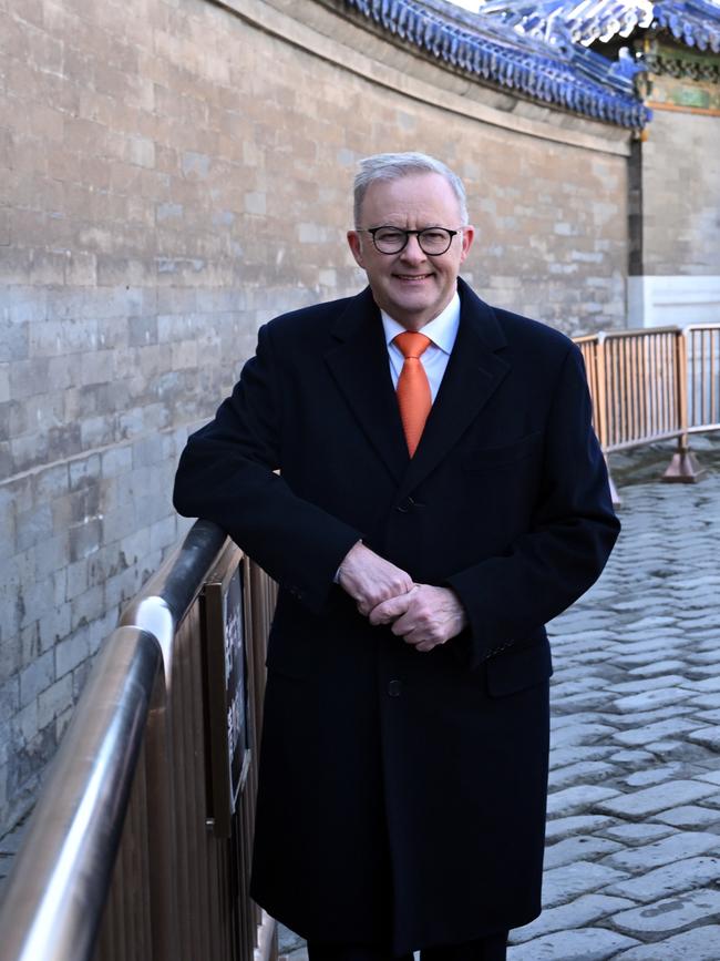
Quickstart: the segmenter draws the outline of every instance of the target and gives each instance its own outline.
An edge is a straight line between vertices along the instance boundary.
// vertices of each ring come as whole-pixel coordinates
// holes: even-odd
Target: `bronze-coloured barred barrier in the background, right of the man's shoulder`
[[[689,435],[720,430],[720,324],[592,334],[575,343],[606,458],[677,438],[664,480],[697,481],[703,471],[689,449]]]

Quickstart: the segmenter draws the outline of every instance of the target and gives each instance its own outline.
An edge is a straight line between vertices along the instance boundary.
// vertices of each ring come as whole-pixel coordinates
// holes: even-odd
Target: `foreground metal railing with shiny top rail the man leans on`
[[[6,882],[2,961],[275,957],[275,924],[247,890],[274,596],[269,579],[198,521],[124,612]],[[210,704],[229,691],[209,677],[234,651],[243,723],[230,796],[233,758],[210,730]],[[223,710],[220,724],[227,733]]]

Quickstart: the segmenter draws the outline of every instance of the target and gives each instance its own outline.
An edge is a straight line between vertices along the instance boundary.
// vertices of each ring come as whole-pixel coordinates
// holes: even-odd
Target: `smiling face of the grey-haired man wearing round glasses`
[[[362,201],[360,226],[422,231],[457,231],[460,204],[448,181],[435,173],[418,173],[371,184]],[[380,254],[367,233],[350,231],[352,256],[368,274],[376,304],[408,330],[419,330],[438,317],[456,289],[457,273],[473,242],[474,229],[462,228],[440,256],[424,254],[411,235],[399,254]]]

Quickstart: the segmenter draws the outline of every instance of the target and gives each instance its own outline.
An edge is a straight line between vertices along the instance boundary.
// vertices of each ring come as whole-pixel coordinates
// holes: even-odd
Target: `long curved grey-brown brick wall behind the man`
[[[0,832],[185,528],[188,429],[260,323],[361,286],[358,157],[421,149],[466,178],[486,299],[569,333],[624,318],[616,130],[518,120],[368,59],[347,22],[342,47],[300,7],[232,6],[0,0]]]

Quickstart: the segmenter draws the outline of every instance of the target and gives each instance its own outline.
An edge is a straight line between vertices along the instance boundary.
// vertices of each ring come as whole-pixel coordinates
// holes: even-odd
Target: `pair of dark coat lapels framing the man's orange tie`
[[[370,288],[350,300],[332,328],[338,343],[326,354],[326,362],[369,442],[400,485],[400,498],[448,454],[510,370],[496,355],[506,341],[494,310],[463,280],[457,282],[457,339],[412,460],[392,388],[380,311]]]

